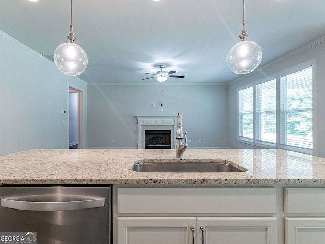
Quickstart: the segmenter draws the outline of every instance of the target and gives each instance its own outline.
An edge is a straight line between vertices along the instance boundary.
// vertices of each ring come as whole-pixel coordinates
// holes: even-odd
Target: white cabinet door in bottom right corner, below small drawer
[[[324,244],[325,218],[285,218],[285,244]]]

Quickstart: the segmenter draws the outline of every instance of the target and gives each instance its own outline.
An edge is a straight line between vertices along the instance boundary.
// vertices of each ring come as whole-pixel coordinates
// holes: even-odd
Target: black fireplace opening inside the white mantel
[[[171,130],[145,130],[145,148],[170,149]]]

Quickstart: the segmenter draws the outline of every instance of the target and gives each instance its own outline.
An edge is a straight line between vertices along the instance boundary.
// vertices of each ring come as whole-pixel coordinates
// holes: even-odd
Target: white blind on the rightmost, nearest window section
[[[312,67],[280,78],[281,146],[313,147]]]

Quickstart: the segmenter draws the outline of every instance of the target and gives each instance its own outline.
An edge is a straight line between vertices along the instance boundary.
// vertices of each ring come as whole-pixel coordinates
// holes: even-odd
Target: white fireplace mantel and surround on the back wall
[[[138,149],[145,148],[145,130],[170,130],[171,148],[175,148],[177,116],[136,116],[138,119]]]

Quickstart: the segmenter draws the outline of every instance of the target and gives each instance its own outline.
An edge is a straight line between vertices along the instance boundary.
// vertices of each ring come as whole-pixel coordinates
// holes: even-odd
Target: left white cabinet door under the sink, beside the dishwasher
[[[120,217],[117,218],[117,243],[193,244],[195,226],[194,217]]]

